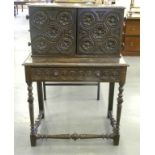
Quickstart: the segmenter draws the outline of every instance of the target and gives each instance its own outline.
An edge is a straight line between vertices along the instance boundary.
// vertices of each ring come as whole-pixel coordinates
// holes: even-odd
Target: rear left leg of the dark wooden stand
[[[37,82],[37,93],[38,93],[39,113],[41,113],[42,118],[44,118],[44,101],[43,101],[42,82]]]

